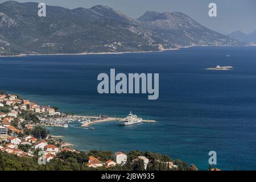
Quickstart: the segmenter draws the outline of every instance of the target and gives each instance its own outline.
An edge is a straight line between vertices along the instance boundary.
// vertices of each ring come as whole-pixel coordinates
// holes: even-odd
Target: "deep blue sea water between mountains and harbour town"
[[[217,64],[234,69],[205,69]],[[97,75],[110,68],[117,73],[159,73],[159,99],[98,94]],[[123,117],[133,111],[158,121],[127,127],[98,123],[93,131],[78,123],[49,128],[79,150],[151,150],[200,169],[208,169],[208,152],[213,150],[218,168],[256,170],[256,47],[0,57],[0,90],[68,113]]]

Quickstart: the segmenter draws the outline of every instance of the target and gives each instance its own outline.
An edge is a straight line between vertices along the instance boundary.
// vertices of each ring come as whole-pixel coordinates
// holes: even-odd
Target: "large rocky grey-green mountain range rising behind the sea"
[[[239,46],[180,12],[147,11],[130,18],[108,6],[47,6],[38,3],[0,4],[0,55],[161,51],[187,46]]]

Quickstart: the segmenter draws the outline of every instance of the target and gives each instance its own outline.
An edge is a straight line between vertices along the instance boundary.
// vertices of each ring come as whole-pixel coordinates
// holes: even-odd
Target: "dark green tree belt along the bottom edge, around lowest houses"
[[[26,150],[28,146],[23,146],[22,149]],[[36,153],[36,152],[35,152]],[[150,151],[139,152],[131,151],[127,154],[127,164],[124,166],[115,166],[111,168],[99,167],[99,168],[88,168],[86,163],[90,155],[97,156],[102,162],[106,160],[113,159],[114,155],[109,151],[89,151],[88,154],[85,152],[60,152],[57,154],[55,159],[52,159],[46,165],[38,164],[38,157],[18,157],[13,154],[7,154],[6,152],[0,151],[0,171],[89,171],[89,170],[131,170],[131,171],[143,171],[144,164],[142,160],[137,160],[137,162],[132,162],[133,159],[137,158],[137,154],[144,155],[151,162],[148,164],[147,170],[154,171],[167,171],[173,170],[168,168],[164,163],[157,162],[159,159],[172,160],[166,155],[154,154]],[[195,166],[188,167],[187,163],[181,162],[180,160],[175,160],[178,168],[175,170],[195,170]]]

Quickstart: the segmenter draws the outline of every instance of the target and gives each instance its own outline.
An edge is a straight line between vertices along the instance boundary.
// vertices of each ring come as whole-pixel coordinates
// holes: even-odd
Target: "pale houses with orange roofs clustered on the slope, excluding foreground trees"
[[[80,154],[73,148],[68,148],[67,144],[61,139],[52,137],[44,127],[40,126],[40,119],[59,115],[56,107],[40,106],[34,102],[23,100],[15,94],[0,92],[0,150],[5,154],[15,155],[18,158],[38,158],[45,159],[50,163],[52,159],[59,159],[63,152]],[[38,152],[44,151],[43,156]],[[124,152],[115,152],[114,155],[108,154],[108,158],[99,155],[86,157],[83,165],[86,168],[114,168],[125,165],[135,165],[141,163],[141,169],[146,170],[152,159],[138,153],[132,158]],[[167,158],[170,159],[170,158]],[[177,169],[178,166],[173,161],[155,160],[162,164],[164,168]],[[152,164],[151,164],[152,166]]]

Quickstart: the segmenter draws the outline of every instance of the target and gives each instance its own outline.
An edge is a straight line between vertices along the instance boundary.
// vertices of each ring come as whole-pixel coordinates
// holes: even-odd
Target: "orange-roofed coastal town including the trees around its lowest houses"
[[[69,118],[63,113],[57,112],[57,107],[39,106],[34,102],[23,100],[16,94],[0,92],[0,155],[14,155],[19,158],[31,158],[40,161],[45,160],[46,165],[51,161],[61,162],[66,156],[72,154],[73,158],[79,158],[81,169],[130,169],[130,170],[197,170],[193,164],[187,167],[180,160],[172,160],[166,155],[154,154],[152,152],[131,151],[105,152],[89,151],[85,154],[69,148],[72,144],[63,142],[60,138],[52,136],[45,127],[52,125],[66,125]],[[65,119],[57,118],[67,117]],[[49,119],[51,118],[52,119]],[[74,118],[74,120],[77,118]],[[42,122],[42,123],[41,123]],[[48,125],[49,122],[50,124]],[[45,155],[40,156],[43,151]],[[82,160],[81,160],[82,158]],[[38,165],[37,164],[37,165]]]

